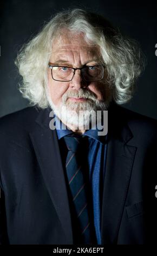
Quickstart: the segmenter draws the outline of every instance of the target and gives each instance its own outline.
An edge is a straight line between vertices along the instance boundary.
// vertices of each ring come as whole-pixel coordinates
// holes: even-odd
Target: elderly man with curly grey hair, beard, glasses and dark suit
[[[138,45],[73,9],[24,45],[16,65],[31,107],[0,121],[0,242],[153,242],[156,121],[119,106],[144,65]]]

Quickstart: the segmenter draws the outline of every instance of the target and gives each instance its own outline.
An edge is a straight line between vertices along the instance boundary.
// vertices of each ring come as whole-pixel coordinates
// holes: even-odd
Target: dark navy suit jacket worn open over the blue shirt
[[[72,244],[73,229],[50,109],[0,120],[0,242]],[[156,242],[156,121],[110,107],[103,187],[103,244]],[[155,234],[156,233],[156,234]]]

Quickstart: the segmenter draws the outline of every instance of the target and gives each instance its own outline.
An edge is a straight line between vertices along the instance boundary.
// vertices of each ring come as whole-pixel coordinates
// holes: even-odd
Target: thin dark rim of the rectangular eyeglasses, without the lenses
[[[73,77],[74,77],[74,75],[75,75],[75,71],[76,71],[77,69],[78,69],[78,70],[82,70],[82,69],[84,69],[84,68],[90,68],[90,67],[92,67],[92,66],[83,66],[82,68],[71,68],[71,66],[58,66],[58,67],[61,67],[61,68],[63,67],[63,68],[69,68],[69,69],[73,69],[73,70],[74,70],[74,74],[73,74],[73,77],[71,78],[71,80],[63,81],[63,80],[56,80],[56,79],[54,79],[54,77],[53,77],[53,67],[54,67],[54,66],[57,66],[57,65],[51,65],[51,64],[49,64],[48,66],[49,66],[49,68],[51,69],[51,76],[52,76],[53,80],[59,81],[59,82],[70,82],[70,81],[73,80]],[[81,71],[81,76],[82,76],[82,79],[83,79],[84,81],[86,81],[86,82],[96,82],[96,81],[100,81],[100,80],[103,79],[105,66],[104,66],[104,65],[94,65],[94,66],[102,66],[102,68],[103,68],[103,69],[102,69],[102,78],[97,79],[97,80],[86,80],[86,79],[84,79],[84,77],[83,77],[83,75],[82,75],[82,71]]]

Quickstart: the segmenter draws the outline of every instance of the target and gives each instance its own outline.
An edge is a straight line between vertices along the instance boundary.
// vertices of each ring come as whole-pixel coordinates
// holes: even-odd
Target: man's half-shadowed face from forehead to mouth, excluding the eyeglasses
[[[50,57],[52,65],[82,68],[83,66],[99,65],[100,48],[88,44],[82,34],[71,34],[66,31],[60,39],[53,44]],[[76,70],[73,80],[60,82],[53,80],[51,70],[48,70],[48,89],[51,106],[59,110],[62,106],[70,111],[105,110],[111,99],[111,90],[105,84],[107,77],[104,69],[104,79],[95,82],[85,82],[81,77],[81,71]],[[102,109],[103,108],[103,109]]]

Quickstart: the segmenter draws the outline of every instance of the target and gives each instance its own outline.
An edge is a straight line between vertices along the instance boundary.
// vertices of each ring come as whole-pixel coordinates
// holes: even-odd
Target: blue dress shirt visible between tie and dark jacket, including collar
[[[62,137],[73,133],[73,131],[69,130],[60,119],[56,116],[54,116],[54,118],[59,140]],[[61,127],[64,127],[64,129],[61,129]],[[83,136],[88,137],[88,166],[91,192],[93,196],[94,227],[97,244],[101,245],[101,210],[104,170],[106,166],[107,136],[99,136],[97,134],[98,131],[99,130],[97,129],[86,130],[86,132],[83,133]]]

